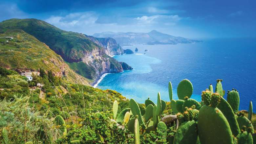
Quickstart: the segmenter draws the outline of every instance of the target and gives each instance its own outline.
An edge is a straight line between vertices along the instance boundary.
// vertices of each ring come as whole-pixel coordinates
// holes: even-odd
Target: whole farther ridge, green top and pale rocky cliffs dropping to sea
[[[88,79],[95,80],[104,73],[123,71],[121,64],[110,57],[123,52],[114,39],[64,31],[37,19],[10,19],[0,23],[0,33],[9,29],[21,29],[34,36]]]

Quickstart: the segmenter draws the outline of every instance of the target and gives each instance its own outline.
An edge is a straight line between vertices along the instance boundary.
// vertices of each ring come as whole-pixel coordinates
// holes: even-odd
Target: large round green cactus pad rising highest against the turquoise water
[[[179,83],[178,88],[177,88],[177,95],[178,95],[179,99],[183,100],[185,97],[190,98],[192,93],[193,93],[192,83],[187,79],[182,80]]]

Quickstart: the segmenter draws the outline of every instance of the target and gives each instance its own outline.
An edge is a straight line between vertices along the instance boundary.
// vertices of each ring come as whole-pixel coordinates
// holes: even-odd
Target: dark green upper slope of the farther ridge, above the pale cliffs
[[[37,19],[10,19],[0,23],[0,33],[8,29],[22,29],[50,46],[67,62],[79,62],[96,47],[100,47],[83,34],[64,31]]]

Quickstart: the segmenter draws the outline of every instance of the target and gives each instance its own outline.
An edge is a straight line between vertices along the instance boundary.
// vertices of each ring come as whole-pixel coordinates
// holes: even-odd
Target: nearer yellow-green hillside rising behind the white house
[[[7,42],[8,41],[8,42]],[[77,75],[64,60],[47,45],[23,30],[7,30],[0,33],[0,66],[19,72],[52,70],[56,76],[68,81],[89,84],[89,80]]]

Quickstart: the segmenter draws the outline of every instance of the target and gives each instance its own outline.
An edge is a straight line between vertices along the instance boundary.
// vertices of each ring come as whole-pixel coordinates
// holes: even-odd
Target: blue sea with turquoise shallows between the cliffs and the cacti
[[[232,88],[239,91],[241,110],[248,109],[250,100],[256,105],[256,39],[214,39],[194,44],[123,48],[135,51],[135,47],[139,49],[135,54],[114,56],[134,70],[108,74],[98,88],[116,90],[139,103],[144,103],[147,97],[156,101],[158,92],[161,99],[170,101],[168,82],[172,82],[174,99],[178,99],[177,86],[181,80],[188,79],[194,88],[191,98],[201,101],[201,92],[210,83],[215,89],[216,79],[223,79],[226,92]]]

